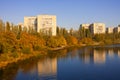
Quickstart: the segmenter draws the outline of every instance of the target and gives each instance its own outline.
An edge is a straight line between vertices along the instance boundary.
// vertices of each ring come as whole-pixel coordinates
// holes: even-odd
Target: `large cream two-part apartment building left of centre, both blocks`
[[[38,15],[37,17],[24,17],[24,26],[29,30],[44,32],[46,34],[56,35],[56,16]]]

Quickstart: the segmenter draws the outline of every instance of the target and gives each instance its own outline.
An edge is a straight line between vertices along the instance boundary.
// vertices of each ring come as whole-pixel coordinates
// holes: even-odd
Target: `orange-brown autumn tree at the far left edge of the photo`
[[[9,36],[8,36],[9,35]],[[6,32],[0,35],[0,51],[2,53],[13,52],[16,48],[16,35],[13,32]]]

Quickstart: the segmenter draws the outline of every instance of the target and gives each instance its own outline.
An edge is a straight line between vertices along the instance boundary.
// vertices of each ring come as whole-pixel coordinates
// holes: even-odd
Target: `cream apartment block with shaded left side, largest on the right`
[[[104,34],[106,31],[105,29],[104,23],[93,23],[90,25],[90,32],[92,34]]]

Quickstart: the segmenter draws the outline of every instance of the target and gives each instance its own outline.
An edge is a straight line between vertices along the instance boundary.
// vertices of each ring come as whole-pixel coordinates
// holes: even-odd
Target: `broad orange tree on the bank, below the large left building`
[[[45,45],[44,39],[38,38],[35,35],[31,35],[26,32],[21,33],[19,46],[23,50],[23,53],[30,53],[33,50],[38,50],[40,47],[44,45]],[[30,52],[26,52],[26,51],[30,51]]]

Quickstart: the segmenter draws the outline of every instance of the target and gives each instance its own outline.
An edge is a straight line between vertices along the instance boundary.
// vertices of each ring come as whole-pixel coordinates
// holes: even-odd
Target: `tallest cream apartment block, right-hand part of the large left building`
[[[56,35],[56,16],[54,15],[38,15],[37,16],[37,32],[45,31],[51,32],[53,36]]]

